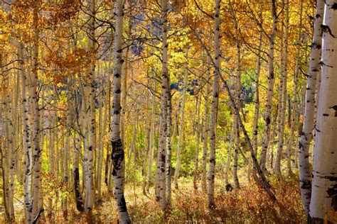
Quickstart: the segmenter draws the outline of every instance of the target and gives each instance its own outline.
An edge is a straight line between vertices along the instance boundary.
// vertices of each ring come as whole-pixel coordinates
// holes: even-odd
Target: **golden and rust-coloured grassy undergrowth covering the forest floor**
[[[128,183],[125,197],[134,223],[305,223],[298,175],[282,180],[273,176],[269,179],[277,201],[271,201],[253,181],[241,183],[240,189],[228,192],[223,187],[223,179],[217,179],[216,206],[212,210],[207,207],[207,194],[201,191],[200,182],[196,191],[192,179],[181,178],[179,189],[173,187],[171,213],[168,215],[164,215],[159,203],[154,200],[154,188],[145,196],[141,184]],[[114,198],[104,195],[103,202],[92,213],[92,221],[117,223]],[[74,201],[70,200],[69,205],[67,217],[60,211],[59,205],[53,217],[46,218],[43,223],[87,223],[86,216],[76,211]],[[4,217],[3,213],[1,216]],[[16,220],[23,221],[23,208],[18,208]]]

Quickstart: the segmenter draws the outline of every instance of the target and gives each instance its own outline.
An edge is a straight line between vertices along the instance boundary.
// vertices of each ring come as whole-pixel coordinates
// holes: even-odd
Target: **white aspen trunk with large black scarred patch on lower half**
[[[114,33],[115,47],[115,64],[114,64],[114,81],[113,81],[113,118],[112,118],[112,162],[114,177],[114,198],[117,202],[119,219],[121,223],[131,223],[129,213],[127,212],[127,203],[124,198],[124,177],[125,161],[124,147],[120,133],[120,116],[121,116],[121,75],[122,64],[122,33],[123,33],[123,0],[117,0],[115,3],[116,26]]]

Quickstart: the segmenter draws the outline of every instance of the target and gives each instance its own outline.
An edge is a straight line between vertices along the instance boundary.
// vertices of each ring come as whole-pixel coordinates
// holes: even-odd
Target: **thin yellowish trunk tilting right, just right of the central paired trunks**
[[[188,53],[186,52],[186,60]],[[179,128],[179,136],[178,136],[178,145],[177,145],[177,160],[176,160],[176,170],[174,172],[174,186],[178,189],[178,178],[181,167],[181,140],[183,137],[183,127],[184,127],[184,119],[185,119],[185,103],[186,103],[186,89],[187,89],[187,77],[188,77],[188,62],[185,64],[184,75],[183,75],[183,101],[181,103],[181,121]]]

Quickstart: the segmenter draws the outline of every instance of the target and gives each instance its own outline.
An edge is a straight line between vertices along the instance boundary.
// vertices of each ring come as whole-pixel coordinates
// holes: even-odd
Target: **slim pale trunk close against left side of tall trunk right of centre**
[[[206,77],[206,90],[205,90],[205,105],[204,105],[204,116],[203,116],[203,156],[201,157],[201,189],[204,193],[207,192],[207,155],[208,155],[208,94],[210,92],[210,74],[207,73]]]

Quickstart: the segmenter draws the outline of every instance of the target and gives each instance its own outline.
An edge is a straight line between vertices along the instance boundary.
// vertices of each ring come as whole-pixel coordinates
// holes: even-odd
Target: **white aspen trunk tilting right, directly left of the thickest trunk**
[[[309,147],[314,130],[315,120],[315,92],[317,84],[317,76],[321,66],[321,46],[322,46],[322,30],[324,14],[324,1],[318,0],[316,4],[316,16],[314,21],[314,36],[311,44],[310,60],[309,60],[309,77],[306,84],[306,103],[304,112],[303,129],[301,140],[299,142],[299,182],[301,186],[301,199],[306,215],[309,213],[310,197],[311,197],[311,169],[309,163]],[[300,18],[301,20],[301,18]],[[299,33],[300,39],[301,32]],[[299,43],[298,43],[299,44]],[[298,65],[296,65],[298,67]]]

